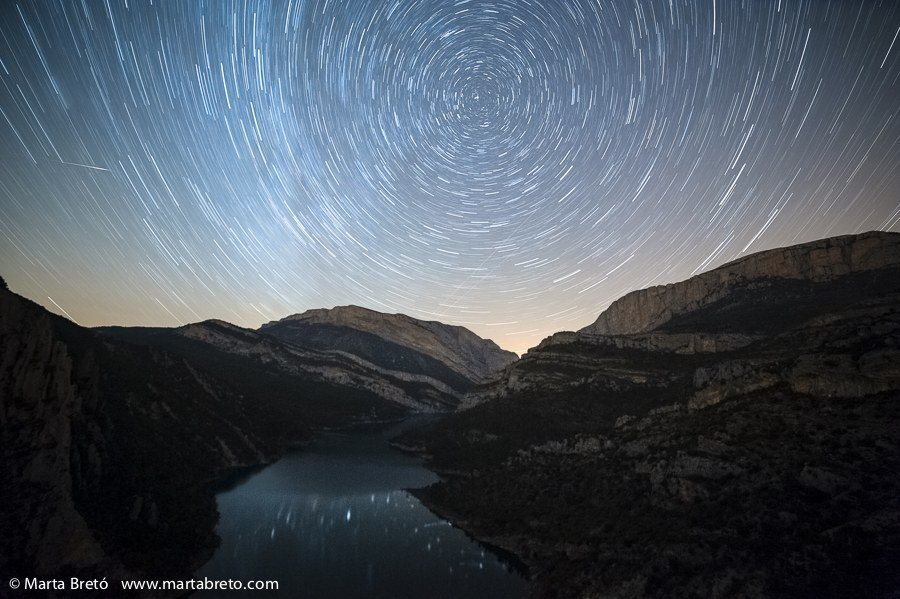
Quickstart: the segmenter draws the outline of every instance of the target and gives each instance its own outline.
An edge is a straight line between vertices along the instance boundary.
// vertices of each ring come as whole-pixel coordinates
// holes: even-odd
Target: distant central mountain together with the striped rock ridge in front
[[[208,320],[183,327],[105,327],[105,335],[165,348],[209,368],[264,368],[371,393],[416,412],[453,409],[515,360],[468,329],[355,306],[310,310],[253,331]],[[252,378],[252,377],[251,377]]]

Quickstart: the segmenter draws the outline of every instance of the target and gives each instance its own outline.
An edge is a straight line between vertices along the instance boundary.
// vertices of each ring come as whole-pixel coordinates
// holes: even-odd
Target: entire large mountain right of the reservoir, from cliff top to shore
[[[900,591],[900,235],[630,293],[401,445],[537,596]]]

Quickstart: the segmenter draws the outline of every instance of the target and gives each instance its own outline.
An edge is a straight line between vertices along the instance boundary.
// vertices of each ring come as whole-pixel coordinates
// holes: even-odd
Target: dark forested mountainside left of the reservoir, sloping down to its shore
[[[313,428],[406,413],[219,351],[196,328],[89,330],[0,286],[0,570],[188,578],[217,543],[210,481]]]

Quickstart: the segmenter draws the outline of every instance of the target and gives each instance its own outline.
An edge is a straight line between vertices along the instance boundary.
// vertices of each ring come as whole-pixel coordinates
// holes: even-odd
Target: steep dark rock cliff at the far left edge
[[[0,570],[46,576],[106,558],[74,498],[101,468],[102,437],[77,430],[96,409],[94,364],[73,361],[41,312],[0,290]]]

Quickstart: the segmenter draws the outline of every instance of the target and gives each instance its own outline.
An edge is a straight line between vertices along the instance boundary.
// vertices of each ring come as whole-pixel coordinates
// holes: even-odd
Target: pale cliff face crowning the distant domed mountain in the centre
[[[473,383],[484,381],[517,357],[464,327],[418,320],[403,314],[384,314],[358,306],[308,310],[267,323],[260,331],[303,344],[304,337],[322,326],[373,335],[393,346],[418,352]],[[352,349],[349,351],[353,352]]]

